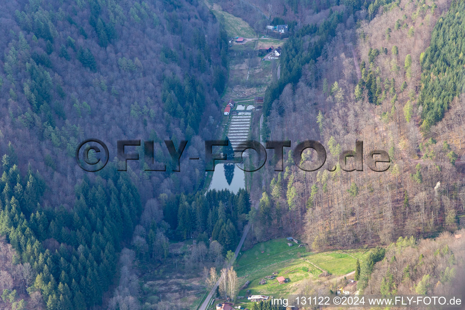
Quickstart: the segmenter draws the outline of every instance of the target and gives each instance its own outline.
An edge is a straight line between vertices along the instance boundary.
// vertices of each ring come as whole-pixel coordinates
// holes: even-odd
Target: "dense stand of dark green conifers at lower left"
[[[72,210],[42,207],[44,179],[31,167],[22,176],[10,155],[2,158],[0,234],[15,250],[7,258],[26,271],[5,275],[1,290],[11,297],[4,301],[21,309],[13,303],[24,303],[27,292],[30,307],[40,306],[41,298],[47,309],[100,304],[112,283],[120,244],[131,237],[140,216],[137,189],[113,168],[108,178],[84,178],[75,185]]]

